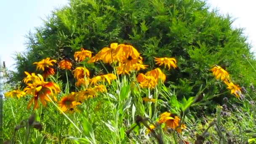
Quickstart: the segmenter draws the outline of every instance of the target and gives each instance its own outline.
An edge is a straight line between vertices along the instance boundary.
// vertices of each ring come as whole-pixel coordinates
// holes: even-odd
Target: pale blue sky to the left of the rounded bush
[[[8,69],[14,69],[13,54],[26,49],[25,35],[29,30],[42,26],[42,19],[67,3],[68,0],[1,0],[0,57]]]

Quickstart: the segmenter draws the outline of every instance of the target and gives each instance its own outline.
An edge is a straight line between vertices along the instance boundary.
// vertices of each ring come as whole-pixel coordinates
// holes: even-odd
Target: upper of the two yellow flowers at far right
[[[212,69],[210,69],[210,71],[213,72],[213,75],[215,76],[216,80],[218,79],[222,81],[229,80],[229,73],[217,65],[215,65]]]

